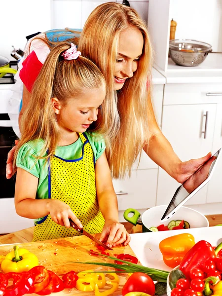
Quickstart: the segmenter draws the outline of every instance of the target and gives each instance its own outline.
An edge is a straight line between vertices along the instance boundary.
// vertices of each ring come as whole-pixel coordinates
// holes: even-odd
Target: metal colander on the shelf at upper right
[[[170,57],[179,66],[198,66],[210,52],[212,52],[212,46],[205,42],[191,39],[170,40]]]

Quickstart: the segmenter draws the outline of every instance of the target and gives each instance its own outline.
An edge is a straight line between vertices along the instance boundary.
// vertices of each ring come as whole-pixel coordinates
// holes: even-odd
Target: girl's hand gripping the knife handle
[[[71,218],[79,228],[83,227],[65,202],[58,199],[49,199],[46,207],[52,220],[57,224],[70,228],[69,218]]]

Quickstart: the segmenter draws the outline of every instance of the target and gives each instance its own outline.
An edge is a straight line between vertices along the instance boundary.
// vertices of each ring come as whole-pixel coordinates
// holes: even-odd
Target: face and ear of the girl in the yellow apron
[[[106,88],[101,87],[86,90],[73,99],[68,99],[61,105],[56,98],[52,98],[52,106],[57,114],[58,124],[62,134],[83,133],[93,121],[97,120],[100,105],[106,96]]]

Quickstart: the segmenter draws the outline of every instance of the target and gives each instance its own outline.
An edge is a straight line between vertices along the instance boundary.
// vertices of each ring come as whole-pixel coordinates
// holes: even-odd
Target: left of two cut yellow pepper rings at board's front
[[[99,288],[103,288],[106,285],[105,275],[102,272],[97,273],[93,272],[93,270],[86,270],[85,272],[79,272],[77,276],[75,288],[79,291],[95,291],[95,285]]]

